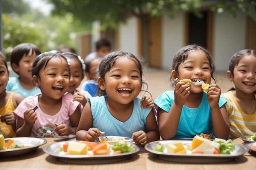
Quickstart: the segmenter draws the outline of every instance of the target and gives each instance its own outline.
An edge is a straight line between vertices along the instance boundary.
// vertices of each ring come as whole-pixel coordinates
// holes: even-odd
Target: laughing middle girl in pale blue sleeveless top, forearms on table
[[[142,87],[142,66],[131,53],[106,55],[99,65],[99,88],[106,96],[90,97],[81,115],[77,140],[94,141],[105,135],[131,137],[144,146],[159,140],[152,108],[141,109],[137,98]]]

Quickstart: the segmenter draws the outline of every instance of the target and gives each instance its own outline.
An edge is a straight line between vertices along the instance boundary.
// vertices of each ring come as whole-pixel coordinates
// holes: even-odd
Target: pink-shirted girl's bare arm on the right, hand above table
[[[67,124],[57,124],[55,123],[56,128],[54,129],[59,136],[68,136],[68,135],[76,135],[76,129],[79,124],[79,119],[80,119],[80,110],[79,107],[76,108],[74,113],[70,116],[70,122],[71,126]]]

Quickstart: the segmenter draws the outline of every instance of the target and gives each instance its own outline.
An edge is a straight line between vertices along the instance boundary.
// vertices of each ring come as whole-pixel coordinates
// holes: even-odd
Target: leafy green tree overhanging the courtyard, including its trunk
[[[152,16],[163,13],[174,15],[175,11],[194,11],[200,17],[200,8],[206,0],[48,0],[54,4],[54,14],[72,13],[81,22],[101,22],[102,29],[117,29],[120,22],[128,16],[135,16],[141,21],[142,55],[148,60],[149,20]],[[230,3],[231,2],[231,3]],[[212,10],[228,9],[248,12],[248,3],[256,6],[255,0],[219,0],[212,4]],[[234,13],[234,12],[233,12]]]

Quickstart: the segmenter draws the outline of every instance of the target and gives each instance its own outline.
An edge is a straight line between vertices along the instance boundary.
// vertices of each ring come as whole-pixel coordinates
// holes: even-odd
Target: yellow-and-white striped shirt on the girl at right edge
[[[252,136],[256,132],[256,111],[252,115],[246,114],[236,101],[233,91],[223,93],[227,100],[226,108],[229,117],[230,133],[229,137]],[[256,94],[254,94],[256,99]]]

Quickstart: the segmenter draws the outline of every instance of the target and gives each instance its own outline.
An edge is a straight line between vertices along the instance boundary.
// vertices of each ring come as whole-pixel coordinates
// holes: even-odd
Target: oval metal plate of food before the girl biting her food
[[[196,139],[195,139],[196,138]],[[243,145],[231,140],[215,138],[207,140],[194,137],[193,140],[153,141],[145,146],[145,150],[160,159],[180,163],[220,163],[234,159],[248,151]]]

